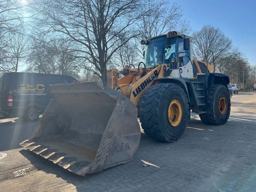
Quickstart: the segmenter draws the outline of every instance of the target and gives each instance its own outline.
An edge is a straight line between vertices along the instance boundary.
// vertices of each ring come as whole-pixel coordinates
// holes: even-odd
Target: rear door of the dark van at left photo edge
[[[9,112],[9,108],[7,106],[7,100],[9,96],[9,84],[8,84],[8,76],[3,74],[0,77],[0,113],[1,112]]]

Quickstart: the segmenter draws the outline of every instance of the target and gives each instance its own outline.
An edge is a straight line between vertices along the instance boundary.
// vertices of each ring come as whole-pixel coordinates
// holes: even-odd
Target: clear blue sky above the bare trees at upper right
[[[249,63],[256,65],[256,0],[182,0],[179,4],[193,30],[205,24],[219,27]]]

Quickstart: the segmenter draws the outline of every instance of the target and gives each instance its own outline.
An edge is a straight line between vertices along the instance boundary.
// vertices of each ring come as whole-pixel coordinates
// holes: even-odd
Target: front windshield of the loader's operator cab
[[[145,65],[154,68],[156,64],[169,64],[173,57],[177,57],[177,37],[157,37],[148,41],[145,50]]]

